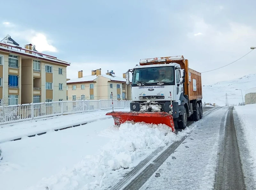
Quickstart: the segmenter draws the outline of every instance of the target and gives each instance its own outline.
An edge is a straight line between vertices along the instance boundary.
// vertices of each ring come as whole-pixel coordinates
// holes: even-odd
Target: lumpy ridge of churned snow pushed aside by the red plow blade
[[[113,129],[113,126],[111,128]],[[42,179],[31,189],[89,190],[104,187],[104,181],[108,181],[111,173],[117,172],[115,170],[134,167],[133,162],[140,159],[137,158],[138,152],[179,140],[181,136],[189,133],[189,130],[175,135],[167,125],[127,122],[121,124],[119,131],[114,133],[116,136],[103,146],[99,154],[86,156],[74,168],[64,169],[57,175]]]

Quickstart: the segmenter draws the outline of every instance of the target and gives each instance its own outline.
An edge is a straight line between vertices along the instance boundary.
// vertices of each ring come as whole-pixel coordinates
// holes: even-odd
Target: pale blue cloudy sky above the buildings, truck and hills
[[[121,77],[140,59],[178,55],[204,72],[256,46],[256,1],[204,2],[13,0],[1,9],[0,36],[9,34],[20,46],[32,43],[38,51],[70,62],[68,78],[98,68]],[[255,59],[253,50],[232,65],[202,73],[203,84],[256,73]]]

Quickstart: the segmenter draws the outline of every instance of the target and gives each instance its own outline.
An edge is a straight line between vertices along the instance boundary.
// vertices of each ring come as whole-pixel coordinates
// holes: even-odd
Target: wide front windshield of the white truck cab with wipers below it
[[[164,82],[164,84],[166,85],[173,85],[173,73],[173,66],[134,69],[132,76],[132,85],[137,86],[137,83],[139,82],[146,86],[156,85],[154,83],[157,82]]]

